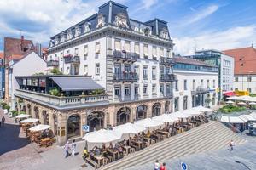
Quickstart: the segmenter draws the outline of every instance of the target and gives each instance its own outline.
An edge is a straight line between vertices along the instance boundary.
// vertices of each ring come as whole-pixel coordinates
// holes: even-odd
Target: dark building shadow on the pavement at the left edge
[[[28,139],[20,138],[19,133],[19,125],[4,123],[4,127],[0,127],[0,156],[30,144]]]

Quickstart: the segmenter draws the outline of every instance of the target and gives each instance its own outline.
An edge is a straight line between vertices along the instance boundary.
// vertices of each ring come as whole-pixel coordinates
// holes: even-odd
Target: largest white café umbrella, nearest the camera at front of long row
[[[101,129],[95,132],[86,133],[83,137],[89,143],[109,143],[121,139],[122,133],[113,130]]]

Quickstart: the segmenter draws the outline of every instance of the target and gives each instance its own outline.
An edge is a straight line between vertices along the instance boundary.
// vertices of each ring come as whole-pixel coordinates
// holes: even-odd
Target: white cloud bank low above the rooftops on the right
[[[194,49],[214,48],[224,50],[229,48],[247,47],[256,42],[256,25],[233,27],[226,31],[213,31],[198,37],[173,38],[176,54],[194,54]]]

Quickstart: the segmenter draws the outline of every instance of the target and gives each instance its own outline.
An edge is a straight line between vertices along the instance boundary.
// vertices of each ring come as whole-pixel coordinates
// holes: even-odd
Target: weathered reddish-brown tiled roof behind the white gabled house
[[[32,40],[4,37],[4,57],[8,63],[11,59],[21,59],[24,55],[34,51]]]

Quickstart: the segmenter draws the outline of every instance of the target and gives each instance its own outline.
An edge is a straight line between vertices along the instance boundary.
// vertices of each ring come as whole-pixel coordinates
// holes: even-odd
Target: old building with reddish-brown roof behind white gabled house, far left
[[[9,80],[9,61],[17,61],[24,57],[24,55],[31,53],[35,50],[33,42],[31,40],[20,38],[4,37],[4,67],[5,67],[5,80]],[[9,81],[5,81],[5,89],[9,89]],[[5,90],[4,99],[9,102],[9,90]]]

